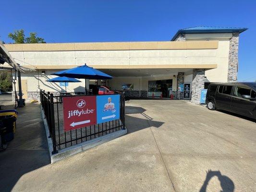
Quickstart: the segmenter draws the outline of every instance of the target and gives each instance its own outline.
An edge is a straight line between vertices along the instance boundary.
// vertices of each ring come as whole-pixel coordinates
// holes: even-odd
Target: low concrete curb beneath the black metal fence
[[[111,132],[109,134],[106,134],[104,136],[92,139],[90,141],[86,141],[80,144],[75,144],[73,146],[67,147],[65,149],[61,149],[58,151],[57,154],[52,155],[51,152],[53,151],[53,145],[52,145],[52,141],[51,138],[49,138],[49,127],[47,124],[47,121],[44,117],[44,111],[42,109],[42,106],[40,106],[41,108],[41,114],[42,114],[42,119],[44,121],[44,126],[45,126],[45,132],[46,132],[46,137],[47,137],[47,143],[48,143],[48,148],[49,148],[49,156],[50,156],[50,160],[51,163],[55,163],[57,161],[60,161],[61,159],[67,158],[69,156],[73,156],[75,154],[78,154],[80,152],[83,152],[87,149],[90,149],[92,147],[98,146],[100,144],[104,144],[106,142],[109,142],[113,139],[116,139],[122,135],[125,135],[127,133],[127,129],[122,129],[116,132]]]

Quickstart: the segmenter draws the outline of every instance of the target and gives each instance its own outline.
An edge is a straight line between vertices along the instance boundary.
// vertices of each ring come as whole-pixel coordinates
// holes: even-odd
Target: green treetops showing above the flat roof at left
[[[14,33],[9,33],[8,37],[11,38],[14,43],[46,43],[43,38],[37,37],[37,33],[29,33],[28,37],[25,37],[24,30],[15,30]]]

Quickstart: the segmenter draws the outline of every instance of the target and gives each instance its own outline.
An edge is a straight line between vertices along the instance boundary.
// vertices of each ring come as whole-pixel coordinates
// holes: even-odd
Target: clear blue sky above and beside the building
[[[239,38],[238,80],[256,80],[255,0],[5,0],[1,8],[5,43],[15,29],[57,43],[169,41],[186,27],[247,27]]]

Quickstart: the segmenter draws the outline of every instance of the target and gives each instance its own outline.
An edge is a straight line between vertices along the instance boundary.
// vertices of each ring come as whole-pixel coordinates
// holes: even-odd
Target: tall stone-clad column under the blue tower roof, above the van
[[[237,80],[239,33],[233,33],[229,43],[228,82]]]

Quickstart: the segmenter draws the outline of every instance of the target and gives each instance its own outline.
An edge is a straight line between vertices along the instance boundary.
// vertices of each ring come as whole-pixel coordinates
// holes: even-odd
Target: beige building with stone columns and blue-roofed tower
[[[209,82],[236,81],[238,38],[246,28],[192,27],[179,30],[171,41],[5,44],[15,61],[35,68],[22,74],[23,94],[37,97],[38,88],[61,92],[51,73],[87,64],[110,74],[106,84],[130,97],[191,99],[199,103]],[[69,83],[67,91],[84,92],[85,80]],[[91,85],[90,85],[91,84]],[[87,81],[87,87],[96,84]]]

